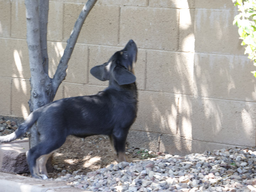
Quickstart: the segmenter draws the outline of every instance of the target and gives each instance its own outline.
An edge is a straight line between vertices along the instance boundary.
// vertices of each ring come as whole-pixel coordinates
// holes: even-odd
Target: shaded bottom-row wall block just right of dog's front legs
[[[150,151],[159,151],[160,133],[130,130],[127,136],[129,147],[144,147]]]

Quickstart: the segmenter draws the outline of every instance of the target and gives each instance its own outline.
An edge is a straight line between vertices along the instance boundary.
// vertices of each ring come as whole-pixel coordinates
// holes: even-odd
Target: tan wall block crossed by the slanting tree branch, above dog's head
[[[64,41],[68,40],[82,7],[79,4],[64,4]],[[102,17],[102,14],[104,17]],[[95,5],[81,29],[78,43],[118,44],[119,7]]]

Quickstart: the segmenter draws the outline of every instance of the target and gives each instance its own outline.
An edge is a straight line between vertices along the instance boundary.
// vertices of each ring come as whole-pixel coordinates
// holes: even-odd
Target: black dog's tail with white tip
[[[19,126],[18,129],[16,129],[15,132],[11,133],[10,135],[0,136],[0,142],[6,143],[19,139],[28,131],[28,129],[32,127],[32,125],[37,121],[38,117],[38,111],[30,113],[30,115],[28,115],[26,120]]]

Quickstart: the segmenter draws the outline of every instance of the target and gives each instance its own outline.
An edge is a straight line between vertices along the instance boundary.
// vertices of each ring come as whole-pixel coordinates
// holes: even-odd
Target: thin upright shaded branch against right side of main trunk
[[[48,53],[47,53],[47,24],[48,24],[49,0],[39,0],[39,27],[40,45],[43,60],[43,69],[48,74]]]

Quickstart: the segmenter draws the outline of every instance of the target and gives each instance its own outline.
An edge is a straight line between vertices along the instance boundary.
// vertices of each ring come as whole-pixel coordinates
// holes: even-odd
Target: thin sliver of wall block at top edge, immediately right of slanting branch
[[[98,0],[97,4],[102,5],[131,5],[131,6],[147,6],[147,0]]]

